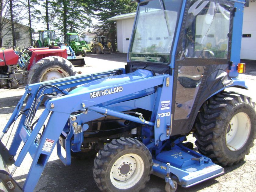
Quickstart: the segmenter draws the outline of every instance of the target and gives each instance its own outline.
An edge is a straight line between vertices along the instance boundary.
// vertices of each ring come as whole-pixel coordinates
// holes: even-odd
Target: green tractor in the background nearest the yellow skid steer
[[[66,44],[70,46],[76,55],[86,56],[87,51],[91,51],[90,44],[80,41],[78,33],[66,33]]]

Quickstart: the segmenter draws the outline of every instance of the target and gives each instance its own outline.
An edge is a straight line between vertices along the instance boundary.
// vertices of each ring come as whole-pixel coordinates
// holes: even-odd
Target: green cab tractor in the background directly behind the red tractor
[[[49,45],[57,46],[60,42],[59,38],[56,39],[54,30],[39,30],[39,39],[37,40],[35,46],[38,47],[48,47]]]

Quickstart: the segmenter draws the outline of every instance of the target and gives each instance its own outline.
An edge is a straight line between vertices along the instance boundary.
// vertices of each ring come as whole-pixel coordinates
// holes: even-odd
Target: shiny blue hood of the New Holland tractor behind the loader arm
[[[153,76],[153,73],[151,71],[145,70],[145,69],[138,69],[137,71],[135,71],[133,73],[105,77],[105,78],[102,78],[99,80],[91,81],[87,84],[84,84],[81,87],[74,89],[73,91],[70,91],[69,94],[81,93],[84,91],[93,90],[93,93],[95,93],[95,95],[92,95],[91,97],[101,97],[101,96],[104,96],[105,94],[114,94],[114,93],[120,91],[120,90],[115,90],[114,88],[108,88],[108,87],[112,87],[112,86],[120,87],[124,83],[132,82],[132,81],[136,81],[136,80],[140,80],[140,79],[144,79],[144,78],[148,78],[148,77],[152,77],[152,76]],[[154,92],[155,92],[155,88],[152,87],[149,89],[145,89],[143,91],[139,91],[139,92],[136,92],[133,94],[126,95],[125,97],[107,101],[98,106],[102,107],[102,106],[107,106],[107,105],[110,105],[113,103],[127,101],[127,100],[131,100],[131,99],[135,99],[135,98],[140,98],[140,97],[144,97],[146,95],[152,94]]]

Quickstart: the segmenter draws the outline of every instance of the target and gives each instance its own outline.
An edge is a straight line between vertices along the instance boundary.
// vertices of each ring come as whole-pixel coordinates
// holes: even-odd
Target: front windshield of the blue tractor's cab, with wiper
[[[181,3],[180,0],[152,0],[140,4],[130,61],[169,62]]]

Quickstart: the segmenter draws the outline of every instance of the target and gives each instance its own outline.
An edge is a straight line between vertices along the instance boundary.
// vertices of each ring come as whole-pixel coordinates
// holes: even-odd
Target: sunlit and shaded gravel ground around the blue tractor
[[[103,60],[105,59],[105,60]],[[126,54],[102,54],[102,55],[87,55],[85,58],[86,66],[76,68],[82,74],[94,73],[108,69],[116,69],[124,67],[126,63]],[[255,97],[254,84],[256,83],[256,63],[247,65],[247,72],[241,74],[240,78],[246,80],[249,90],[240,90],[233,88],[233,91],[243,92]],[[0,128],[2,129],[7,123],[15,106],[23,95],[24,90],[3,90],[0,89]],[[43,111],[41,107],[39,111]],[[190,138],[193,140],[193,138]],[[5,144],[7,136],[4,137]],[[10,144],[10,141],[9,141]],[[8,146],[9,146],[8,144]],[[251,153],[246,155],[244,161],[232,167],[225,167],[225,173],[214,179],[207,180],[190,188],[179,187],[177,191],[256,191],[256,141],[254,147],[251,148]],[[27,155],[21,167],[19,167],[14,179],[22,186],[26,174],[29,170],[32,158]],[[35,191],[99,191],[94,183],[92,173],[93,159],[85,161],[72,158],[72,164],[65,166],[58,159],[56,149],[52,153],[44,172],[37,183]],[[9,168],[12,170],[12,167]],[[164,191],[165,181],[157,176],[151,176],[150,182],[142,190],[144,192]],[[1,191],[1,190],[0,190]]]

